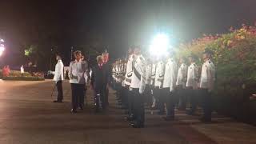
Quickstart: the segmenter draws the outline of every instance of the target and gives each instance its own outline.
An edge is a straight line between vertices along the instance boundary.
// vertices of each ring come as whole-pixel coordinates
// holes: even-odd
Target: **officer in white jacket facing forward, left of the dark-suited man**
[[[70,71],[69,71],[69,77],[70,77],[70,84],[71,84],[71,90],[72,90],[72,109],[71,113],[76,113],[78,108],[78,99],[81,97],[84,97],[84,86],[87,82],[87,67],[86,62],[82,61],[82,53],[81,51],[75,51],[74,52],[75,60],[73,62],[70,62]],[[82,106],[80,106],[82,109]]]

